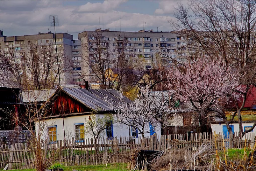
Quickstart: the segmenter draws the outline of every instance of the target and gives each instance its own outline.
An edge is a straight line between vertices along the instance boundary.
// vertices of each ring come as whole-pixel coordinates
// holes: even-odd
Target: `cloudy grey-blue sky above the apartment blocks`
[[[5,36],[47,32],[49,15],[58,15],[56,32],[77,34],[102,27],[111,31],[171,31],[168,20],[180,1],[0,1],[0,30]],[[103,15],[103,16],[102,16]],[[121,20],[120,20],[121,18]],[[99,22],[100,21],[100,22]],[[143,23],[144,21],[144,23]]]

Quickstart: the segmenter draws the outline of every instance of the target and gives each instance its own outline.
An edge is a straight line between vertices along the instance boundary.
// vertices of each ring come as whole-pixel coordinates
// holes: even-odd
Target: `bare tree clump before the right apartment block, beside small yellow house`
[[[126,76],[133,74],[134,48],[125,37],[116,35],[113,45],[107,37],[101,36],[101,31],[88,32],[86,41],[82,42],[85,54],[82,58],[90,72],[83,74],[92,81],[99,81],[102,88],[120,90],[126,83]],[[88,77],[87,77],[88,79]]]

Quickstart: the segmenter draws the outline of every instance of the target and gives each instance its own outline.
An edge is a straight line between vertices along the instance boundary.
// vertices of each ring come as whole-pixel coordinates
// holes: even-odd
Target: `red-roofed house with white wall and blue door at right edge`
[[[242,98],[237,101],[238,106],[241,107],[242,104]],[[231,120],[232,115],[235,112],[235,106],[233,104],[229,105],[229,110],[226,111],[226,117],[228,121]],[[242,124],[243,124],[243,131],[246,129],[250,129],[253,124],[256,122],[256,87],[251,86],[249,89],[249,92],[247,93],[247,98],[244,103],[244,107],[241,111],[241,117],[242,117]],[[239,132],[239,125],[238,125],[238,119],[237,115],[233,119],[232,123],[229,124],[229,126],[232,128],[233,133]],[[227,126],[220,118],[215,118],[214,121],[211,122],[212,132],[214,131],[216,133],[223,132],[225,136],[227,136]],[[256,127],[251,133],[256,132]],[[244,137],[243,137],[244,139]]]

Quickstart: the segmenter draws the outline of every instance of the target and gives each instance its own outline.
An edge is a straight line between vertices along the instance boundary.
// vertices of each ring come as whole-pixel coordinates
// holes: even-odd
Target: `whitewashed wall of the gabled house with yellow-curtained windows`
[[[103,117],[102,114],[99,114]],[[88,119],[89,115],[81,115],[81,116],[70,116],[64,118],[64,126],[65,126],[65,138],[72,139],[75,136],[75,124],[84,123],[86,119]],[[115,120],[115,119],[114,119]],[[42,121],[41,121],[42,122]],[[64,140],[64,131],[63,131],[63,120],[60,116],[59,118],[55,119],[48,119],[47,121],[43,122],[42,130],[40,131],[40,127],[38,126],[38,122],[35,122],[36,132],[42,132],[41,139],[46,140],[48,137],[48,127],[50,126],[57,126],[57,140]],[[149,124],[148,124],[148,131],[149,131]],[[105,131],[105,138],[106,138],[106,130]],[[161,135],[160,126],[157,126],[155,129],[157,135]],[[141,136],[140,134],[138,136]],[[145,133],[145,137],[150,136],[150,133]],[[129,137],[129,126],[117,124],[113,122],[113,137]],[[92,138],[90,135],[86,134],[85,138]]]

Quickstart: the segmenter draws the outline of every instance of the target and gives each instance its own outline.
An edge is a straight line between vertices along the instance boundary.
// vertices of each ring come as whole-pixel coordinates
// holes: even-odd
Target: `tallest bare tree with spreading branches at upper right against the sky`
[[[193,59],[207,56],[211,60],[221,60],[226,65],[237,68],[242,73],[240,81],[247,88],[238,91],[246,101],[255,85],[255,37],[256,1],[189,1],[188,6],[179,4],[176,20],[171,26],[182,36],[192,40]],[[242,117],[244,107],[236,106],[239,118],[239,135],[242,136]]]

